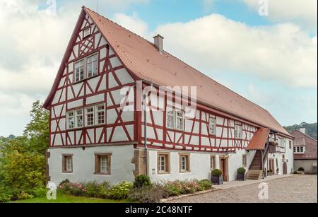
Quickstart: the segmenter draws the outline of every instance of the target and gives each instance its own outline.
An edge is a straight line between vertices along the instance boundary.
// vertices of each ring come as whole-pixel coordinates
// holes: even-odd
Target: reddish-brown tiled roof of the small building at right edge
[[[317,159],[317,140],[303,134],[298,129],[294,130],[292,136],[295,137],[294,146],[305,146],[305,153],[294,154],[294,159]]]

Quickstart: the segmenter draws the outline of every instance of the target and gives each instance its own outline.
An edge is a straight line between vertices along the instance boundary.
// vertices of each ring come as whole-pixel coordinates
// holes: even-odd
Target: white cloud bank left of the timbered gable
[[[81,6],[96,6],[95,0],[63,1],[57,5],[57,16],[50,16],[46,2],[0,0],[0,136],[21,134],[31,103],[45,100],[52,87]],[[147,2],[100,1],[100,12]]]

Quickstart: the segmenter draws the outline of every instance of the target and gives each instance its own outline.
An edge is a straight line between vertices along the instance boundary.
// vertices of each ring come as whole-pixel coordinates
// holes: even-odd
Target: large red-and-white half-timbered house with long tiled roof
[[[196,95],[179,97],[168,88],[176,86]],[[143,97],[148,87],[157,92]],[[293,171],[293,136],[268,111],[166,52],[160,35],[149,42],[86,7],[44,106],[47,180],[56,184]]]

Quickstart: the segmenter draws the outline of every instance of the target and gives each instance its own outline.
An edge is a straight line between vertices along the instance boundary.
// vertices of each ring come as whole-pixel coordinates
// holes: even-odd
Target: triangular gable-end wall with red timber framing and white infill
[[[90,28],[90,35],[83,38],[86,28]],[[76,61],[92,54],[98,54],[98,74],[75,83]],[[62,66],[54,82],[56,88],[45,102],[50,110],[50,147],[136,143],[138,114],[134,110],[123,114],[124,108],[135,105],[131,90],[136,89],[136,76],[124,67],[85,11],[78,19]],[[123,88],[127,91],[124,96],[119,95]],[[85,109],[95,105],[105,105],[105,124],[86,127]],[[67,112],[76,110],[84,112],[83,127],[68,129]]]

